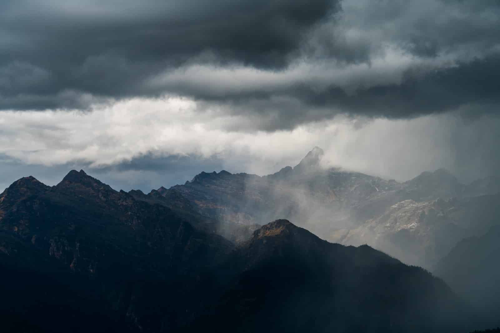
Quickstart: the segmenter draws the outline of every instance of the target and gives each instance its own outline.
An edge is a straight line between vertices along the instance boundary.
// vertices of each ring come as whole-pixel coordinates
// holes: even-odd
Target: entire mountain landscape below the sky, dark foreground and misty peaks
[[[202,172],[148,194],[115,191],[82,170],[52,187],[33,177],[15,181],[0,195],[1,328],[482,329],[464,292],[474,281],[466,262],[496,257],[475,238],[458,242],[497,223],[498,182],[463,185],[437,170],[398,183],[324,170],[322,155],[315,147],[294,168],[263,177]],[[329,243],[288,220],[360,246]],[[435,267],[459,296],[398,259]],[[453,280],[463,270],[467,278]],[[485,289],[491,283],[481,281]]]

